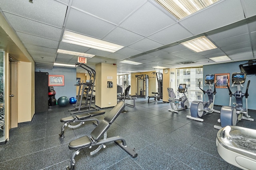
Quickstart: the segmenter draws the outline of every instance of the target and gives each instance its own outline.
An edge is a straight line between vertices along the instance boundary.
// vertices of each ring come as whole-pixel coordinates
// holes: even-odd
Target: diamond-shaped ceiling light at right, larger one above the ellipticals
[[[206,36],[191,39],[181,44],[195,52],[202,52],[217,48],[208,38],[206,38]]]

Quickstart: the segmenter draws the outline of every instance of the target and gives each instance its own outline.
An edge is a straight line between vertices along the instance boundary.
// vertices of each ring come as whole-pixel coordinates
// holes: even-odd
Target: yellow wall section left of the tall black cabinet
[[[32,115],[32,64],[18,63],[18,123],[31,121]]]

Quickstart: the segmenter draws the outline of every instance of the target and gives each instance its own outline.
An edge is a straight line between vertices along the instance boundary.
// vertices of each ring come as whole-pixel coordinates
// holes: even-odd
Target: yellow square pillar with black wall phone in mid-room
[[[96,65],[96,96],[95,104],[100,108],[116,106],[117,80],[116,65],[100,63]],[[113,88],[107,87],[107,82],[113,82]]]

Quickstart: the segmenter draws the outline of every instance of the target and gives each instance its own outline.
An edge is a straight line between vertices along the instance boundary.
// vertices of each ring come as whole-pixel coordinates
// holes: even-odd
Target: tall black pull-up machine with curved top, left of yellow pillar
[[[81,68],[85,69],[87,71],[88,75],[90,76],[90,79],[86,80],[85,83],[84,83],[84,81],[82,81],[82,83],[79,82],[78,84],[75,84],[75,86],[79,86],[77,99],[76,99],[76,106],[75,106],[75,108],[69,109],[68,111],[72,111],[72,112],[70,112],[70,114],[74,114],[74,113],[82,113],[82,112],[86,112],[86,111],[98,110],[95,105],[92,106],[92,98],[95,99],[93,92],[95,92],[94,84],[95,84],[95,78],[96,78],[96,71],[84,63],[76,63],[76,67],[81,67]],[[81,93],[81,97],[80,97],[81,90],[82,90],[82,93]],[[80,99],[79,99],[79,97],[80,97]],[[82,104],[83,97],[86,98],[84,104]],[[95,104],[95,102],[94,102],[94,104]]]

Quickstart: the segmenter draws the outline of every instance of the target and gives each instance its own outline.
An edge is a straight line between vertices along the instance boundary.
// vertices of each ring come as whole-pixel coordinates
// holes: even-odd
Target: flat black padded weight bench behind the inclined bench
[[[96,121],[98,125],[100,123],[100,121],[96,118],[92,118],[98,115],[103,115],[105,113],[104,110],[99,110],[99,111],[93,111],[91,113],[83,113],[80,115],[76,115],[76,116],[69,116],[69,117],[64,117],[62,119],[60,119],[60,122],[63,122],[64,125],[61,128],[61,132],[59,133],[60,138],[64,138],[64,128],[66,126],[70,127],[70,128],[76,128],[81,126],[82,124],[84,124],[85,121]],[[78,125],[70,125],[70,123],[72,122],[80,122]]]

